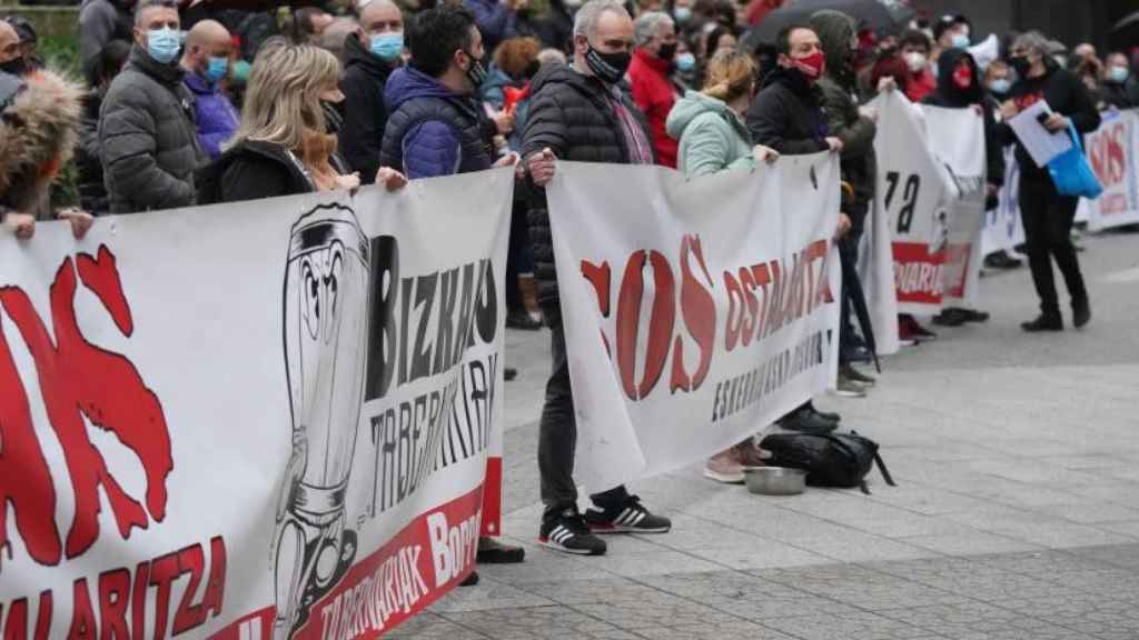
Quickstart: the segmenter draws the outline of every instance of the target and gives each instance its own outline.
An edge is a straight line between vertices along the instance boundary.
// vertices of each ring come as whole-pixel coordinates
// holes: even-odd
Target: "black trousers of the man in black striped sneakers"
[[[570,359],[566,356],[566,335],[557,314],[550,323],[552,368],[546,384],[546,405],[538,433],[538,469],[542,478],[542,502],[546,511],[560,511],[577,504],[577,485],[573,482],[574,448],[577,445],[577,422],[573,410],[573,388],[570,386]],[[590,497],[598,507],[622,504],[629,492],[624,486]]]

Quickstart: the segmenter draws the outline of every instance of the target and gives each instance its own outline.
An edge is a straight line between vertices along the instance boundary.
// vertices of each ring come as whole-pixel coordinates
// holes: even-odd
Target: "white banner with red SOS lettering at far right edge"
[[[1105,114],[1095,133],[1084,137],[1084,151],[1104,192],[1087,202],[1092,230],[1139,223],[1139,114]]]

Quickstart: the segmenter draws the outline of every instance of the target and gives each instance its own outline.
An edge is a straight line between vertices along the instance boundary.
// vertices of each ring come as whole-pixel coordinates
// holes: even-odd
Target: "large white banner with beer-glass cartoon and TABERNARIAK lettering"
[[[513,181],[2,235],[0,637],[372,638],[456,586]]]

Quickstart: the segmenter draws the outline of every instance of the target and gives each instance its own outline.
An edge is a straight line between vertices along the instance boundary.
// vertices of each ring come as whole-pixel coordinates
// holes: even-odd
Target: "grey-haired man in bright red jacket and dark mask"
[[[677,167],[677,140],[665,130],[669,112],[682,95],[672,81],[673,59],[677,57],[677,25],[667,14],[649,11],[633,24],[637,50],[629,65],[629,84],[633,101],[648,118],[658,164]]]

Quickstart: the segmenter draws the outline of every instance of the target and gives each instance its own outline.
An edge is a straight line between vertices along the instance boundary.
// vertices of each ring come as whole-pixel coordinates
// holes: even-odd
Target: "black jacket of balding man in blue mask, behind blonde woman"
[[[344,123],[339,131],[339,151],[353,171],[360,172],[360,182],[371,184],[379,170],[379,147],[387,125],[387,104],[384,85],[394,65],[384,63],[363,48],[360,40],[350,35],[344,41]]]

